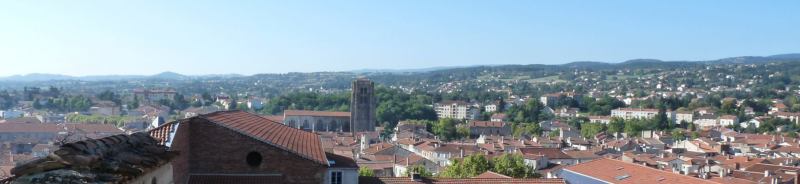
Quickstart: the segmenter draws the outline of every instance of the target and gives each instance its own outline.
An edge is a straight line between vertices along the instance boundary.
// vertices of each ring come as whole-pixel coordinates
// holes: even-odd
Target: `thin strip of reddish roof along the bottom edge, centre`
[[[456,184],[456,183],[531,183],[531,184],[563,184],[563,179],[541,178],[422,178],[417,181],[409,177],[359,177],[361,184]]]

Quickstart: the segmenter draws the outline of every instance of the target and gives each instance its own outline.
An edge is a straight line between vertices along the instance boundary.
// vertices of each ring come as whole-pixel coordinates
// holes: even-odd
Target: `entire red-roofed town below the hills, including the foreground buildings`
[[[0,111],[0,183],[800,182],[798,86],[737,97],[725,94],[768,82],[716,75],[699,80],[726,84],[699,88],[667,82],[689,74],[661,74],[617,79],[649,86],[636,90],[576,71],[572,82],[541,85],[590,89],[541,95],[513,92],[519,81],[507,80],[481,88],[502,98],[431,98],[411,115],[391,111],[379,92],[415,88],[379,90],[366,78],[350,82],[346,106],[292,102],[276,114],[264,113],[276,106],[266,96],[25,88],[0,94],[22,99],[1,103],[13,105]],[[487,81],[427,88],[446,95]],[[435,117],[414,114],[424,111]]]

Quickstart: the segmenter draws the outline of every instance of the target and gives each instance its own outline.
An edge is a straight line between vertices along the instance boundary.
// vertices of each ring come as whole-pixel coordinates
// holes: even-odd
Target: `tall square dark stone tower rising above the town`
[[[375,83],[359,78],[353,81],[350,95],[350,128],[358,132],[375,131]]]

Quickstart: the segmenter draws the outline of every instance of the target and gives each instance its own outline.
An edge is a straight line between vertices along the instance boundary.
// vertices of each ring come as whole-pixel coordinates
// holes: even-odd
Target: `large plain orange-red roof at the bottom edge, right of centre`
[[[609,183],[716,183],[608,158],[567,166],[562,172],[564,171],[580,173]]]

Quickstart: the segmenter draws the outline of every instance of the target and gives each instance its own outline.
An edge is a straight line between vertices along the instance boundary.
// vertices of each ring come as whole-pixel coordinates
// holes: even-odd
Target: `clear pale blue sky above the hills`
[[[800,1],[0,1],[0,76],[763,56],[800,52],[797,12]]]

